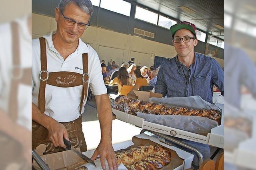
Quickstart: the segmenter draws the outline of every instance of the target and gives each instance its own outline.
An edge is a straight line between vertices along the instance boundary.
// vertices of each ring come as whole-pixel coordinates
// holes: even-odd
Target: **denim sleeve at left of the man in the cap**
[[[164,71],[162,68],[159,69],[157,74],[155,93],[161,93],[163,97],[165,97],[167,94],[167,86],[166,83],[164,82]]]

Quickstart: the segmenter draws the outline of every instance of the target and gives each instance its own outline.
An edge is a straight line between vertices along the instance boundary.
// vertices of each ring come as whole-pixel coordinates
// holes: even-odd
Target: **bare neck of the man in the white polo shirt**
[[[76,51],[78,47],[78,41],[74,43],[65,43],[62,39],[59,38],[58,33],[52,35],[52,42],[54,44],[55,49],[62,55],[64,60],[74,51]]]

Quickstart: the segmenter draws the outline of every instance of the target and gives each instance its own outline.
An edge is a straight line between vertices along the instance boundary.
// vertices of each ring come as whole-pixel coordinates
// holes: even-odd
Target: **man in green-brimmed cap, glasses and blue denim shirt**
[[[155,92],[167,97],[198,95],[212,103],[213,85],[224,94],[224,71],[215,59],[194,52],[198,43],[194,24],[183,21],[172,25],[170,31],[178,55],[161,65]],[[208,145],[187,140],[183,142],[198,148],[204,159],[210,158]],[[194,164],[197,161],[194,159]]]

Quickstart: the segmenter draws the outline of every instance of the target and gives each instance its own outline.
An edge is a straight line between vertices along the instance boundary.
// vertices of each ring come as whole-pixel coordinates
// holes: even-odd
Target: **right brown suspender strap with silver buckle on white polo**
[[[82,90],[82,95],[81,95],[81,102],[80,102],[80,114],[82,111],[82,107],[84,105],[84,96],[87,97],[87,88],[88,88],[88,80],[89,80],[89,74],[88,74],[88,53],[83,54],[83,76],[82,76],[82,81],[83,81],[83,90]]]

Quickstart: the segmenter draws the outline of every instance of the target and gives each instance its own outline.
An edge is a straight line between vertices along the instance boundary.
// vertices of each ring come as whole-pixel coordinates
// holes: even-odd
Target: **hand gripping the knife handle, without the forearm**
[[[52,121],[52,123],[50,123],[48,127],[48,131],[49,131],[49,134],[48,134],[49,139],[50,141],[52,141],[54,147],[66,148],[66,145],[63,142],[63,137],[68,141],[69,139],[68,139],[68,131],[64,127],[64,125],[62,125],[57,121]]]

